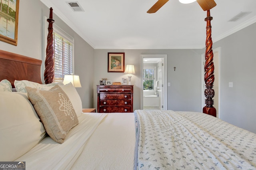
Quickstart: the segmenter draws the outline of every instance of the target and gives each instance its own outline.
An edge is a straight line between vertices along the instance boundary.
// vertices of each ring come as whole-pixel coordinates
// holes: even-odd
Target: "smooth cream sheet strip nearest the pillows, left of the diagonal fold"
[[[107,114],[85,113],[78,117],[79,124],[68,132],[63,144],[47,136],[16,161],[25,161],[26,170],[70,169],[88,138],[106,116]]]

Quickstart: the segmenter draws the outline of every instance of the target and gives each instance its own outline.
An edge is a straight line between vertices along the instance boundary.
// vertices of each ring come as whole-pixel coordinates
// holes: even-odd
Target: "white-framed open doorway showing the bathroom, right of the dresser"
[[[167,110],[167,55],[140,56],[140,109]]]

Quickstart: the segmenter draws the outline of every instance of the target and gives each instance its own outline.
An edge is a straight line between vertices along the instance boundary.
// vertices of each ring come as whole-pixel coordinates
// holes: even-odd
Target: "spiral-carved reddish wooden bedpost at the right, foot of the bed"
[[[212,52],[212,26],[211,26],[212,17],[210,16],[210,10],[207,10],[207,17],[205,21],[206,25],[206,50],[205,50],[205,65],[204,65],[204,81],[206,89],[204,91],[204,95],[206,97],[205,104],[206,106],[203,108],[203,113],[208,115],[212,115],[216,117],[216,109],[213,107],[214,101],[214,64],[213,64],[213,52]]]

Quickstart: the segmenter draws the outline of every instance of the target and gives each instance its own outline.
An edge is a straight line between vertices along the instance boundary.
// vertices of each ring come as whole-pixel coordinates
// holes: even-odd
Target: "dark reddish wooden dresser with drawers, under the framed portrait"
[[[133,85],[97,85],[98,113],[133,112]]]

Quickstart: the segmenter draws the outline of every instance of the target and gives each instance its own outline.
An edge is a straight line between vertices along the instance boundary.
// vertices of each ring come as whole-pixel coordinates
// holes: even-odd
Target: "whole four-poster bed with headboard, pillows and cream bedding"
[[[0,50],[0,161],[27,170],[256,169],[256,134],[211,114],[82,113],[76,89],[52,83],[47,50],[47,83],[42,61]]]

